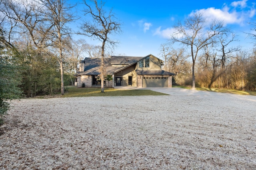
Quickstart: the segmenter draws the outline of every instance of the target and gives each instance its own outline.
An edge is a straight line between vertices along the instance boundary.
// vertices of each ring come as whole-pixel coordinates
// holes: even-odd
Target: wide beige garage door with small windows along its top
[[[143,77],[142,87],[168,87],[168,77]]]

